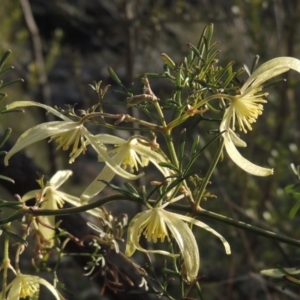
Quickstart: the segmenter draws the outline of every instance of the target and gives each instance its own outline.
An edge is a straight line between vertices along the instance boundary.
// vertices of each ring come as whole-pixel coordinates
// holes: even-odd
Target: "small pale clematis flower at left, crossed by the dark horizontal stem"
[[[78,197],[69,195],[67,193],[59,191],[59,187],[73,174],[70,170],[56,172],[50,181],[44,185],[42,180],[39,180],[41,185],[40,190],[33,190],[26,193],[21,200],[23,202],[28,201],[32,198],[37,198],[38,202],[41,202],[42,209],[57,210],[64,205],[64,201],[67,201],[73,205],[79,206],[80,199]],[[55,227],[55,216],[39,216],[41,223],[38,223],[39,232],[42,234],[44,239],[48,242],[49,246],[53,246],[54,241],[54,227]]]

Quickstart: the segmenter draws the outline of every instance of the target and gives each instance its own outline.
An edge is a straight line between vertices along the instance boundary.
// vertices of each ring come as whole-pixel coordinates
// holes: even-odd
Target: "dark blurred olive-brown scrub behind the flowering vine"
[[[30,99],[60,107],[76,104],[76,109],[85,109],[97,101],[88,84],[102,80],[103,86],[112,85],[105,98],[107,109],[118,111],[115,102],[125,99],[115,92],[108,67],[124,84],[134,83],[134,91],[140,93],[141,83],[134,75],[163,72],[161,53],[179,63],[188,53],[187,43],[197,44],[210,23],[215,26],[213,41],[219,42],[222,66],[235,61],[236,70],[243,64],[251,67],[256,55],[260,56],[259,63],[278,56],[300,58],[297,0],[4,0],[0,9],[0,54],[12,50],[9,64],[15,69],[7,76],[25,80],[5,89],[5,103]],[[286,82],[268,89],[264,114],[245,137],[248,147],[241,151],[254,163],[274,168],[274,175],[248,175],[225,155],[210,185],[217,198],[203,206],[300,239],[299,214],[289,217],[297,199],[284,191],[298,181],[289,165],[300,164],[300,76],[289,72],[284,78]],[[151,86],[159,98],[170,92],[165,81],[151,81]],[[40,109],[26,111],[18,117],[1,117],[2,131],[13,128],[11,143],[29,127],[49,121]],[[199,134],[204,145],[207,135],[201,126]],[[189,141],[194,138],[188,136]],[[40,142],[25,149],[15,166],[13,162],[9,169],[2,166],[1,174],[16,179],[14,187],[6,184],[6,191],[22,195],[30,182],[34,186],[36,172],[51,177],[58,169],[71,168],[73,182],[67,190],[79,195],[100,170],[95,164],[96,155],[88,152],[69,166],[67,154],[54,152],[54,148],[47,141]],[[204,173],[213,157],[213,149],[210,151],[199,161]],[[2,193],[1,198],[9,197],[4,190]],[[124,205],[114,203],[108,209],[120,214]],[[259,275],[265,268],[299,266],[299,249],[218,222],[203,221],[219,231],[232,248],[232,255],[226,256],[215,238],[196,230],[204,299],[299,299],[298,286]],[[79,265],[76,260],[66,263],[66,274],[70,268],[76,271],[72,271],[73,282],[64,275],[65,284],[78,291],[69,299],[129,299],[125,294],[100,296],[101,280],[82,283]],[[74,281],[83,286],[74,286]]]

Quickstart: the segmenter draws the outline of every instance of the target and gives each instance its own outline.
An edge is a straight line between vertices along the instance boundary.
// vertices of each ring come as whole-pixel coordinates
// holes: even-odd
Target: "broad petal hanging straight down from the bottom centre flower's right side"
[[[189,226],[177,214],[161,210],[164,221],[175,238],[183,256],[187,279],[193,281],[197,278],[200,268],[200,255],[195,236]]]

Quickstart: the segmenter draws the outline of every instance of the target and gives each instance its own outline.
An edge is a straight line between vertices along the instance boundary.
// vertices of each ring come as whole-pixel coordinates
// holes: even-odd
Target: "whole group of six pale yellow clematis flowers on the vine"
[[[267,93],[263,92],[263,84],[273,77],[280,75],[288,70],[295,70],[300,73],[300,61],[291,57],[279,57],[261,65],[252,75],[246,80],[244,85],[240,88],[239,93],[236,95],[229,94],[216,94],[215,97],[207,99],[222,98],[229,101],[226,107],[219,130],[224,139],[225,149],[231,160],[237,164],[244,171],[256,176],[268,176],[273,174],[273,169],[264,168],[253,164],[249,160],[242,157],[238,152],[236,146],[246,147],[246,143],[237,135],[236,130],[243,133],[252,130],[253,124],[257,118],[263,113],[263,105],[267,102]],[[148,88],[148,93],[149,93]],[[153,93],[151,91],[151,93]],[[149,97],[148,97],[149,98]],[[148,99],[145,97],[145,99]],[[150,97],[151,98],[151,97]],[[150,99],[149,98],[149,99]],[[143,98],[144,99],[144,98]],[[151,98],[154,106],[157,104],[157,97]],[[202,99],[201,103],[205,103]],[[207,100],[208,102],[209,100]],[[144,194],[141,196],[135,192],[135,199],[138,199],[141,204],[147,206],[147,210],[138,213],[133,217],[128,227],[127,242],[126,242],[126,255],[132,256],[136,250],[148,253],[157,253],[165,256],[170,256],[176,259],[181,256],[185,266],[186,278],[189,282],[197,280],[198,271],[200,268],[200,255],[198,244],[192,226],[196,225],[201,227],[218,237],[227,254],[231,253],[230,246],[223,236],[212,229],[205,223],[195,219],[191,216],[186,216],[166,210],[166,207],[175,201],[188,199],[191,204],[190,215],[195,216],[201,209],[199,207],[200,200],[193,199],[193,192],[190,190],[187,183],[187,176],[184,173],[185,154],[182,150],[182,159],[178,158],[175,153],[175,147],[172,144],[170,132],[172,126],[170,124],[181,124],[180,116],[176,121],[166,124],[162,117],[161,110],[158,109],[159,118],[162,120],[161,133],[165,134],[168,141],[169,155],[166,155],[158,146],[156,141],[151,141],[144,136],[133,135],[128,139],[123,139],[110,134],[92,134],[86,127],[88,118],[79,118],[76,116],[74,121],[72,117],[67,117],[58,110],[44,104],[33,101],[17,101],[7,105],[6,110],[12,110],[20,107],[37,106],[45,109],[48,113],[61,119],[61,121],[47,122],[37,125],[24,132],[12,149],[6,154],[4,158],[5,165],[8,165],[10,158],[18,151],[24,149],[32,143],[49,138],[50,141],[56,141],[58,144],[57,149],[70,151],[70,163],[73,163],[76,158],[84,154],[88,147],[92,147],[97,153],[99,162],[104,162],[104,167],[99,175],[87,186],[79,197],[59,191],[61,185],[72,175],[71,170],[58,171],[50,179],[49,182],[44,183],[39,181],[41,188],[33,190],[21,198],[23,202],[29,199],[36,199],[36,206],[44,210],[59,210],[63,207],[65,201],[77,207],[84,207],[89,204],[92,198],[99,194],[110,182],[114,176],[118,175],[126,180],[136,180],[143,176],[140,172],[151,163],[161,173],[164,178],[164,184],[151,194],[157,194],[156,200],[150,200],[150,196],[146,197]],[[191,106],[188,104],[188,110]],[[157,108],[157,106],[156,106]],[[198,108],[198,107],[197,107]],[[204,113],[208,108],[199,110],[198,113]],[[190,113],[193,116],[193,113]],[[73,116],[74,117],[74,116]],[[145,123],[149,126],[150,123]],[[150,124],[151,125],[151,124]],[[157,129],[157,125],[153,124],[151,129]],[[154,130],[153,130],[154,131]],[[182,143],[183,144],[183,143]],[[184,147],[183,147],[184,148]],[[204,181],[203,181],[204,182]],[[177,186],[176,186],[177,184]],[[168,186],[169,185],[169,186]],[[168,186],[167,189],[164,189]],[[170,187],[171,186],[171,187]],[[204,190],[206,186],[202,190]],[[124,193],[125,194],[125,193]],[[195,193],[196,194],[196,193]],[[88,211],[93,216],[103,218],[103,212],[99,207],[95,207]],[[39,233],[43,236],[43,240],[47,242],[48,247],[54,246],[54,233],[55,233],[55,216],[39,216],[36,218],[36,225]],[[94,228],[96,228],[94,226]],[[140,244],[140,238],[144,235],[147,241],[157,243],[176,241],[179,250],[174,252],[158,249],[145,249]],[[112,241],[114,239],[112,238]],[[115,242],[117,244],[117,242]],[[119,251],[118,246],[115,250]],[[118,252],[117,251],[117,252]],[[56,290],[49,285],[45,280],[30,275],[17,274],[13,282],[6,287],[8,292],[8,299],[19,299],[27,296],[33,296],[38,286],[45,285],[55,296],[59,299]]]

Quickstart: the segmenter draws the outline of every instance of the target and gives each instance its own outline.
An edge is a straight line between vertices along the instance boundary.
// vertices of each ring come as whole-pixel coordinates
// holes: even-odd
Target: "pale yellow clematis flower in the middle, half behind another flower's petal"
[[[112,160],[117,165],[121,165],[124,169],[129,168],[130,172],[138,171],[139,167],[146,167],[149,162],[154,164],[156,168],[165,176],[171,175],[168,168],[161,167],[159,163],[166,162],[163,155],[152,150],[151,146],[147,145],[146,139],[142,137],[131,137],[128,140],[109,134],[98,134],[95,138],[101,141],[104,145],[113,144],[115,149],[111,153],[115,153]],[[97,178],[86,188],[81,195],[82,202],[88,201],[94,197],[106,186],[101,180],[111,181],[115,173],[111,168],[105,166]]]

